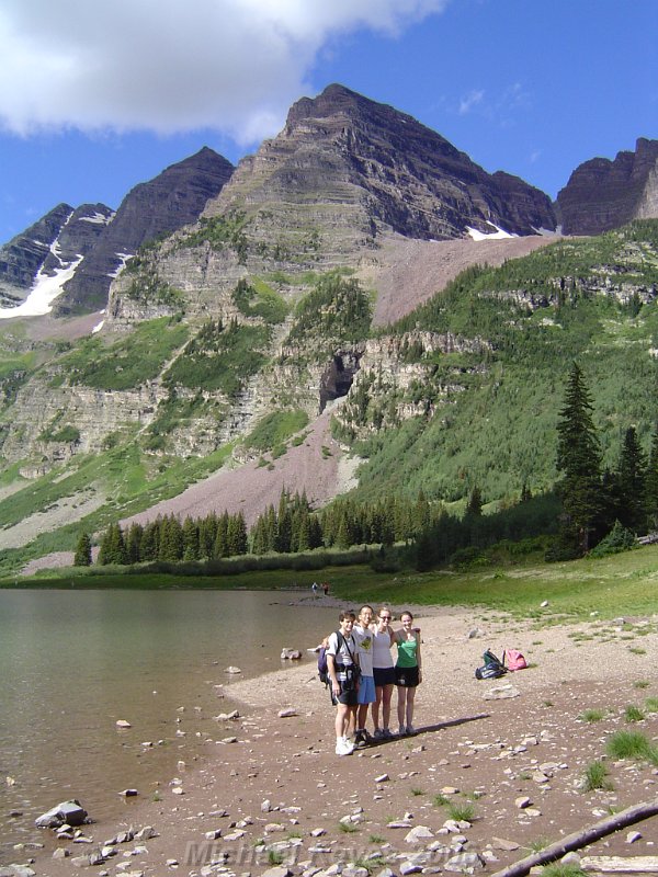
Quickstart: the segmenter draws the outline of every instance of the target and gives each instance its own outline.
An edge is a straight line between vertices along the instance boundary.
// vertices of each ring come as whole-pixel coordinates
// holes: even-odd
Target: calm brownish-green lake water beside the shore
[[[305,651],[337,626],[337,610],[292,605],[299,596],[0,590],[0,862],[44,840],[34,820],[59,801],[109,820],[129,806],[117,793],[150,796],[179,760],[215,755],[203,736],[234,707],[231,680],[290,667],[282,647]]]

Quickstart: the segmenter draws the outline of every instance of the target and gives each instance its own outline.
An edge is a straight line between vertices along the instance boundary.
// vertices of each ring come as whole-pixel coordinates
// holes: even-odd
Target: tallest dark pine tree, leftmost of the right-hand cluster
[[[563,516],[561,542],[575,555],[586,554],[601,521],[601,448],[591,412],[593,406],[582,372],[576,363],[567,379],[564,406],[557,425],[557,468]]]

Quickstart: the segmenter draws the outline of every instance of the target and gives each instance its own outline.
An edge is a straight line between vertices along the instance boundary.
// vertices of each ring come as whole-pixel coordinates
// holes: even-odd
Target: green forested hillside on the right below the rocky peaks
[[[490,352],[418,356],[429,366],[416,398],[436,413],[355,443],[366,458],[360,493],[390,489],[457,500],[477,485],[485,501],[513,499],[556,478],[557,412],[565,377],[580,364],[594,400],[604,462],[614,466],[634,425],[648,451],[658,418],[658,223],[564,240],[500,269],[469,269],[393,327],[487,340]],[[449,392],[446,383],[458,389]],[[371,399],[371,410],[376,399]]]

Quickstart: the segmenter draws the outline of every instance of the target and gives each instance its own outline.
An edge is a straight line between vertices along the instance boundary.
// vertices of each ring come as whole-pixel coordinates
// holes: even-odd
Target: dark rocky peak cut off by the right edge
[[[634,152],[580,164],[558,193],[557,207],[565,235],[600,235],[658,217],[658,140],[640,137]]]

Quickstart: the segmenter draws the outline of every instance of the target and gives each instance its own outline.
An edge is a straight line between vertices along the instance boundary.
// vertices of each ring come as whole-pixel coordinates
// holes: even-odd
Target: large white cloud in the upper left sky
[[[274,134],[327,44],[450,0],[2,0],[0,128]],[[345,83],[349,84],[349,83]]]

